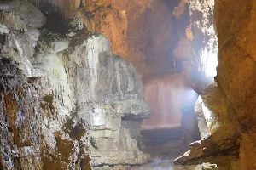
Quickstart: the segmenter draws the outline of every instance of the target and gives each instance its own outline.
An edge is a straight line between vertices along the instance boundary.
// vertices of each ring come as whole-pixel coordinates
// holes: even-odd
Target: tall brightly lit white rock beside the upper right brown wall
[[[197,92],[207,88],[217,75],[218,38],[214,29],[214,0],[188,0],[191,29],[193,30],[192,59],[198,66],[194,88]],[[189,37],[188,37],[189,39]]]

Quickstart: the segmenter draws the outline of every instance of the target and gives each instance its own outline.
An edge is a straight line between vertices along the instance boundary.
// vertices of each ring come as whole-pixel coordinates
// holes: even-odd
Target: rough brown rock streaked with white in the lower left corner
[[[10,59],[1,59],[1,168],[44,169],[75,167],[85,148],[62,136],[64,117],[49,88],[24,77]],[[10,78],[12,77],[12,78]],[[56,117],[62,118],[57,120]],[[40,125],[40,126],[38,126]],[[67,135],[67,134],[66,134]],[[83,134],[86,135],[86,134]],[[81,139],[86,145],[86,139]],[[78,156],[78,150],[81,157]],[[88,155],[87,155],[88,156]],[[73,157],[73,161],[68,161]],[[19,162],[19,163],[18,163]]]

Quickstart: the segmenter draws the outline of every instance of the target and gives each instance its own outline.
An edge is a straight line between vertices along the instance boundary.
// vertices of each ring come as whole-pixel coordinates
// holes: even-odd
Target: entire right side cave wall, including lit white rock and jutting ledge
[[[202,140],[190,144],[190,150],[175,161],[177,164],[209,161],[218,169],[255,169],[255,158],[251,156],[255,152],[254,6],[250,0],[189,2],[192,20],[198,20],[193,15],[204,16],[194,26],[194,34],[200,33],[199,37],[204,39],[201,50],[216,49],[211,46],[214,39],[207,33],[214,17],[213,27],[218,37],[218,67],[214,77],[217,83],[207,87],[211,83],[207,81],[207,74],[201,77],[204,83],[198,87],[201,98],[195,111],[199,114]]]

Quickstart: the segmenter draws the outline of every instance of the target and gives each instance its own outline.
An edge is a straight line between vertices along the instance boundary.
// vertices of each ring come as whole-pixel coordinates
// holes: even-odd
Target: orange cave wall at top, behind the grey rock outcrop
[[[30,1],[42,10],[49,3],[67,18],[82,20],[88,31],[104,34],[112,43],[113,54],[131,61],[143,78],[174,72],[172,51],[177,38],[169,6],[174,8],[178,0]]]

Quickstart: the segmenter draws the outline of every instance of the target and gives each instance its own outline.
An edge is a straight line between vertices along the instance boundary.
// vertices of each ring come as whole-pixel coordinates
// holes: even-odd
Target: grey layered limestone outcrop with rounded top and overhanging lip
[[[69,59],[66,66],[71,66],[68,77],[77,81],[75,89],[79,91],[74,92],[83,92],[76,95],[78,117],[89,124],[96,144],[91,150],[92,165],[132,165],[147,161],[148,156],[137,149],[139,140],[131,139],[129,128],[121,126],[122,117],[132,120],[151,116],[134,67],[114,56],[110,42],[101,35],[89,37],[74,48],[73,53],[64,57]],[[70,65],[70,61],[76,65]],[[72,68],[74,66],[76,68]]]

